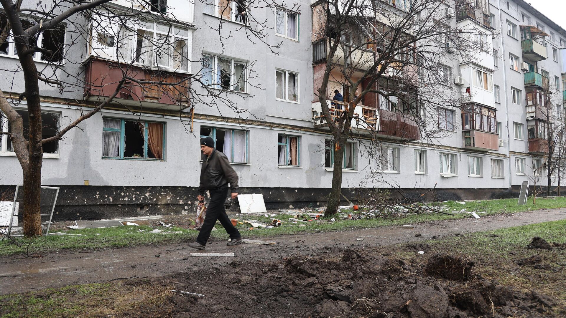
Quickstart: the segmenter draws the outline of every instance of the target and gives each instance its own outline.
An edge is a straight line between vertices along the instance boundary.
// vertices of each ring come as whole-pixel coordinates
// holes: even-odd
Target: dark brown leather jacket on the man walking
[[[199,195],[203,195],[207,190],[228,187],[228,183],[231,192],[238,192],[238,174],[230,166],[226,155],[214,149],[200,168]]]

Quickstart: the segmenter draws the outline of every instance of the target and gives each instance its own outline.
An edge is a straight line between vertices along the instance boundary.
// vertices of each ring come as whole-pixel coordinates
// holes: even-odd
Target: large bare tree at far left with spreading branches
[[[224,10],[231,10],[233,3],[225,2]],[[247,1],[238,3],[246,5]],[[262,3],[256,7],[284,8],[275,2]],[[190,118],[196,106],[219,109],[227,106],[233,111],[229,115],[238,117],[247,110],[238,107],[237,98],[252,97],[237,94],[239,88],[261,87],[253,83],[254,62],[241,66],[238,76],[222,73],[213,79],[216,71],[206,57],[190,57],[190,32],[195,26],[192,20],[180,16],[188,12],[185,7],[170,10],[165,1],[153,0],[0,0],[0,4],[3,8],[0,48],[9,51],[19,62],[18,67],[3,71],[14,74],[12,88],[22,78],[24,83],[19,93],[14,93],[14,89],[10,93],[0,92],[0,111],[10,124],[10,131],[0,133],[9,137],[22,166],[26,236],[42,234],[40,186],[44,147],[63,139],[86,119],[109,105],[140,114],[148,108],[147,102],[158,102],[169,105],[169,114],[188,121],[187,130],[190,130]],[[222,6],[213,7],[222,9]],[[252,13],[245,12],[241,32],[246,32],[251,42],[265,41],[268,26],[257,21]],[[220,25],[218,37],[228,38],[230,33]],[[86,47],[85,56],[82,52]],[[44,63],[36,63],[38,60]],[[200,67],[191,70],[191,65]],[[46,89],[70,96],[78,92],[79,100],[84,92],[85,100],[78,104],[80,116],[68,118],[68,123],[49,137],[42,136],[41,92]],[[24,101],[27,114],[15,107]],[[24,127],[24,116],[28,127]]]

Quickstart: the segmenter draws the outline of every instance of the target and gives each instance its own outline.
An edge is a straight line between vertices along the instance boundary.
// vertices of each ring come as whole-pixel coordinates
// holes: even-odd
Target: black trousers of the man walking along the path
[[[196,242],[206,245],[208,238],[211,236],[212,227],[216,224],[216,220],[220,221],[220,224],[224,226],[226,232],[230,235],[231,239],[240,238],[241,235],[230,221],[230,218],[226,214],[226,208],[224,208],[224,202],[226,201],[226,196],[228,196],[228,187],[220,188],[216,190],[209,190],[211,193],[211,200],[208,203],[207,215],[204,218],[203,227],[200,228],[199,236],[196,238]]]

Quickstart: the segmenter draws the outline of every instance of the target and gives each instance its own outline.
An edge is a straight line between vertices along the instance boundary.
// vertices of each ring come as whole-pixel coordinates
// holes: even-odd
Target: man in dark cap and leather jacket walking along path
[[[200,150],[206,157],[200,169],[199,195],[197,198],[199,201],[203,200],[204,191],[208,190],[211,199],[199,236],[196,238],[196,242],[188,243],[188,246],[196,248],[196,250],[204,250],[216,220],[220,221],[220,224],[224,226],[232,239],[226,245],[242,244],[242,237],[238,229],[232,225],[224,208],[224,202],[228,195],[228,183],[230,183],[232,199],[238,196],[238,174],[230,166],[226,155],[215,149],[214,140],[211,137],[200,139]]]

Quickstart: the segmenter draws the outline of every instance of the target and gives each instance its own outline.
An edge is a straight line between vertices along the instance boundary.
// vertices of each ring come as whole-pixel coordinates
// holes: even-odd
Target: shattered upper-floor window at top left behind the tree
[[[27,20],[20,20],[20,22],[22,22],[22,27],[24,29],[27,29],[35,24],[35,22],[29,22]],[[6,23],[6,16],[3,14],[0,15],[0,27],[5,28]],[[46,61],[52,63],[63,62],[66,28],[66,23],[59,23],[52,29],[39,33],[37,35],[37,42],[35,43],[35,45],[39,48],[50,51],[50,53],[34,53],[33,59],[35,59],[36,61]],[[16,46],[14,44],[14,37],[12,36],[11,32],[6,38],[6,41],[2,45],[0,45],[0,54],[11,57],[18,57],[18,52],[16,51]]]

